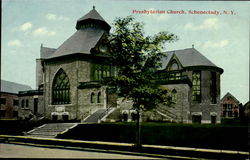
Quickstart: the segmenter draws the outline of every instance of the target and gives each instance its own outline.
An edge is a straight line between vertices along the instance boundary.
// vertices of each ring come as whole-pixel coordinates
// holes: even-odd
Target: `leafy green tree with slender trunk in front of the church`
[[[159,104],[170,104],[167,90],[160,87],[155,75],[161,67],[160,60],[166,56],[162,49],[167,42],[177,40],[168,32],[146,36],[143,23],[132,16],[116,18],[109,34],[110,63],[118,68],[117,76],[106,79],[106,85],[115,86],[119,96],[133,101],[137,110],[137,142],[140,143],[141,110],[152,110]]]

